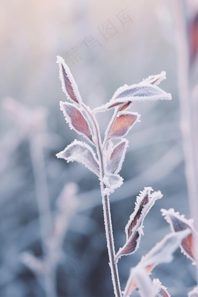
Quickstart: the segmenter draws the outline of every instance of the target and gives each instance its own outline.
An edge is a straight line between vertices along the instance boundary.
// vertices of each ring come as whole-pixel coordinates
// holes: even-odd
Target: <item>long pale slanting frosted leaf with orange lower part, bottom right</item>
[[[171,262],[173,259],[173,253],[179,247],[182,240],[190,234],[190,232],[191,231],[188,228],[179,232],[169,233],[160,242],[158,242],[153,249],[142,257],[137,266],[144,268],[147,273],[150,273],[156,265]],[[136,279],[132,274],[133,269],[131,270],[123,292],[123,297],[130,296],[133,290],[137,287]]]

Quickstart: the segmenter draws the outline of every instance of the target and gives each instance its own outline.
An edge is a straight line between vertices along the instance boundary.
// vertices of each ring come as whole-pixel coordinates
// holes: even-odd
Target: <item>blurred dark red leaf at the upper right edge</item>
[[[198,13],[189,25],[190,61],[194,62],[198,51]]]

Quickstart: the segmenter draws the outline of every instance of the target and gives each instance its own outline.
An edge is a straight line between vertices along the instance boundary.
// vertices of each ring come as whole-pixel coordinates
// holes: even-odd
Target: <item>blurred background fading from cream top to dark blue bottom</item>
[[[121,171],[124,184],[110,197],[118,250],[125,243],[125,225],[139,191],[152,186],[164,194],[145,219],[138,251],[119,261],[122,289],[130,268],[169,232],[160,209],[174,207],[189,218],[174,9],[169,0],[1,4],[0,296],[45,296],[42,278],[40,282],[24,265],[21,253],[29,251],[42,258],[38,204],[44,201],[47,206],[49,198],[48,222],[54,222],[59,215],[56,201],[70,182],[78,185],[78,192],[76,198],[68,193],[65,197],[68,222],[56,274],[57,296],[113,296],[99,181],[82,165],[67,164],[55,156],[75,138],[82,140],[59,110],[59,101],[66,97],[57,55],[65,58],[81,97],[91,108],[107,102],[125,83],[166,71],[167,79],[160,86],[172,94],[172,101],[133,105],[131,110],[141,114],[141,122],[128,135]],[[116,16],[121,10],[128,11],[132,21],[123,25]],[[117,30],[108,41],[98,30],[107,20]],[[99,41],[92,49],[83,42],[90,35]],[[67,52],[72,48],[78,52],[70,61]],[[108,112],[98,117],[102,135],[110,116]],[[171,296],[187,296],[196,284],[195,267],[179,249],[172,263],[157,266],[151,277],[159,278]]]

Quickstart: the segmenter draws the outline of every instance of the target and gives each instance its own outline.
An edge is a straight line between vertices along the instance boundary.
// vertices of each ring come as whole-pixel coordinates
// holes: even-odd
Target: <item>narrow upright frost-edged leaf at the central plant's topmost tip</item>
[[[57,56],[56,63],[59,64],[59,78],[62,83],[62,90],[66,94],[67,98],[76,103],[82,102],[81,96],[78,91],[78,86],[70,72],[69,67],[65,64],[62,57]]]

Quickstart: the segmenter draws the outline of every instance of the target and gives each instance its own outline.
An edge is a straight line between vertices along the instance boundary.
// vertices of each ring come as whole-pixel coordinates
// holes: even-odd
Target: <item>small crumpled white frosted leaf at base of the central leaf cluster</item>
[[[109,174],[103,178],[105,184],[104,195],[109,195],[123,184],[123,178],[119,174]]]

